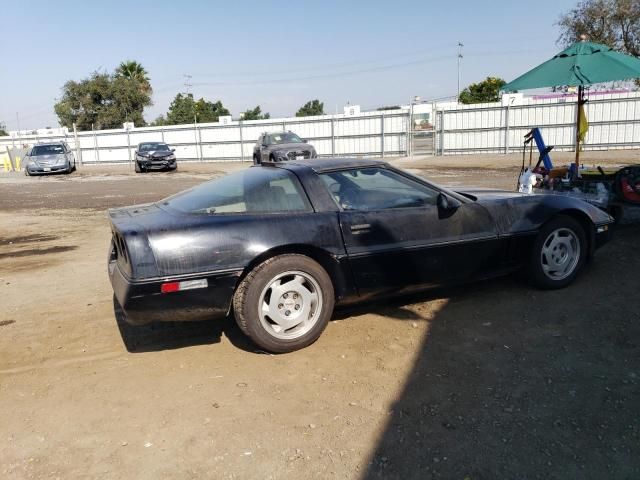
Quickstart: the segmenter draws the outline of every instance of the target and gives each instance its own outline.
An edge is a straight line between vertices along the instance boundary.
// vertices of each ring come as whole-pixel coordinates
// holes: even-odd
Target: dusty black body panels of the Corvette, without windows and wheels
[[[591,254],[608,239],[612,222],[572,198],[458,193],[379,161],[323,159],[254,169],[286,170],[304,190],[305,210],[184,214],[171,207],[170,198],[109,211],[108,271],[129,323],[225,316],[241,279],[283,253],[320,264],[331,278],[336,303],[345,304],[514,271],[526,263],[541,227],[558,214],[584,228]],[[341,207],[321,175],[351,169],[393,172],[439,192],[438,204]],[[163,293],[164,284],[190,281],[201,287]]]

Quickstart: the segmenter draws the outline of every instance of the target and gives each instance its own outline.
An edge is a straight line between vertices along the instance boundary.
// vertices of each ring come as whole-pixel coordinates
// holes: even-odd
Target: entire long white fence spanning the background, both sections
[[[506,103],[423,104],[419,109],[411,106],[357,115],[0,137],[0,151],[65,140],[83,163],[128,162],[138,143],[163,141],[176,149],[179,160],[251,161],[261,133],[292,130],[313,144],[320,156],[509,153],[522,146],[524,135],[533,127],[540,127],[547,145],[556,150],[574,149],[575,96],[524,97],[520,104]],[[435,118],[433,129],[420,124],[418,114],[409,121],[414,110],[420,110],[424,119],[429,109],[428,118]],[[591,93],[586,109],[590,128],[585,149],[640,148],[640,92]]]

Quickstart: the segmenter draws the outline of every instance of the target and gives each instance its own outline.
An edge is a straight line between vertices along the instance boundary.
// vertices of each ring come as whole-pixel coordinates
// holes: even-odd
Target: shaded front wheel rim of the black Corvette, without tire
[[[568,228],[558,228],[542,244],[542,271],[551,280],[564,280],[573,273],[580,260],[580,240]]]

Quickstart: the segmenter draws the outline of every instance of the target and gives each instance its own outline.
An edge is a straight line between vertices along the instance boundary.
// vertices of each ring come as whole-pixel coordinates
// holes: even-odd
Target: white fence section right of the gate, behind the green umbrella
[[[640,148],[640,92],[589,95],[585,149]],[[540,127],[547,145],[575,149],[576,97],[524,98],[522,105],[489,103],[436,108],[437,154],[509,153]]]

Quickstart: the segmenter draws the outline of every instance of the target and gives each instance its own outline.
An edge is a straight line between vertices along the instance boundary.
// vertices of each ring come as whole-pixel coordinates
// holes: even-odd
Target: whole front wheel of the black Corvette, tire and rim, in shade
[[[587,235],[575,219],[559,215],[538,233],[529,265],[530,278],[542,289],[569,285],[587,258]]]

